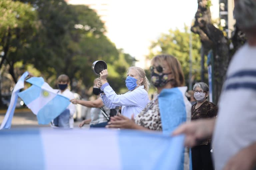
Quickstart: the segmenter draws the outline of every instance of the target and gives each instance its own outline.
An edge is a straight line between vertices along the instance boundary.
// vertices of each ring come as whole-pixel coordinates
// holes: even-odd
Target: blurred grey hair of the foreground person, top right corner
[[[237,0],[234,7],[234,18],[240,28],[256,26],[256,0]]]

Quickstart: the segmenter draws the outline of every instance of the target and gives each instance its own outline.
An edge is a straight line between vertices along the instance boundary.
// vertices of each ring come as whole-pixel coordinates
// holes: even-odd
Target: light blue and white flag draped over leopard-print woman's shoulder
[[[185,96],[187,87],[166,88],[158,96],[159,110],[164,134],[171,134],[179,125],[191,119],[191,103]],[[192,169],[189,148],[183,149],[182,164],[179,168]]]

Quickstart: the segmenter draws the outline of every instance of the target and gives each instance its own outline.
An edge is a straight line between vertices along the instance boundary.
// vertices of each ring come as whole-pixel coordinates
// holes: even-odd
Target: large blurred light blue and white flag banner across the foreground
[[[180,170],[184,136],[116,129],[0,131],[4,170]]]

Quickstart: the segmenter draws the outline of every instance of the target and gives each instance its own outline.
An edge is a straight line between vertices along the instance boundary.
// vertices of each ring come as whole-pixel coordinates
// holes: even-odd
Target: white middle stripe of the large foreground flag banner
[[[86,164],[85,169],[121,170],[118,131],[94,130],[90,134],[92,135],[88,135],[87,131],[81,132],[76,129],[72,131],[58,130],[58,133],[41,131],[42,144],[46,146],[44,147],[45,169],[80,169],[81,164]],[[89,137],[90,142],[81,139],[83,135]],[[76,144],[72,145],[72,147],[67,147],[67,143],[71,144],[74,141],[76,141]],[[86,145],[84,145],[84,142],[86,142]],[[58,145],[55,145],[55,143],[58,143]],[[81,146],[83,145],[88,154],[83,154],[83,151],[81,151]],[[95,149],[104,152],[109,150],[107,148],[111,148],[111,153],[99,154],[99,152],[95,152]],[[109,156],[106,156],[108,154]],[[62,162],[63,160],[67,160],[67,157],[68,161],[64,161],[65,163],[56,163],[56,159]],[[95,158],[100,163],[96,163],[97,160]],[[112,161],[115,161],[115,163],[110,165]]]

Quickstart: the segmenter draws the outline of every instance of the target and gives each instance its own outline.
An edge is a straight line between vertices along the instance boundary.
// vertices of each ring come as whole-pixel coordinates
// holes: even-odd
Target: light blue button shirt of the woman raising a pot
[[[109,84],[104,84],[101,90],[105,93],[101,95],[105,106],[108,108],[122,106],[122,114],[128,118],[131,118],[132,114],[135,117],[149,102],[148,92],[144,89],[144,85],[121,95],[117,95]]]

